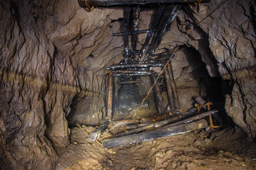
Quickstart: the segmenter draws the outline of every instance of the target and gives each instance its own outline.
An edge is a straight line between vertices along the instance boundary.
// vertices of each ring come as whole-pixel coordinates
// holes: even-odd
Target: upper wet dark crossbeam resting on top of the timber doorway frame
[[[110,69],[132,69],[132,68],[149,68],[149,67],[163,67],[163,62],[156,63],[137,63],[137,64],[114,64],[110,67],[107,67],[107,70]]]

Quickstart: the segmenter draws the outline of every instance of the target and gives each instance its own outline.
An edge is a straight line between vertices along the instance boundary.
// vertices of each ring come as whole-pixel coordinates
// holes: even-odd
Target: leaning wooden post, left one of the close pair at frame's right
[[[166,81],[166,89],[167,89],[167,94],[169,98],[169,103],[170,103],[170,108],[171,108],[171,113],[174,113],[176,107],[175,107],[175,101],[174,101],[174,94],[173,90],[171,89],[171,79],[169,77],[169,72],[166,69],[164,69],[164,79]]]

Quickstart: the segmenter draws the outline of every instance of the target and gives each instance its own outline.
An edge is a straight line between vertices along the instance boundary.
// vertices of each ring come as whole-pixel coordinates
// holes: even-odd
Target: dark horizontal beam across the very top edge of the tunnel
[[[208,0],[209,1],[209,0]],[[202,1],[208,2],[207,0]],[[78,3],[81,7],[86,7],[85,3],[87,3],[90,6],[115,6],[115,5],[144,5],[144,4],[159,4],[159,3],[195,3],[198,2],[198,0],[78,0]]]

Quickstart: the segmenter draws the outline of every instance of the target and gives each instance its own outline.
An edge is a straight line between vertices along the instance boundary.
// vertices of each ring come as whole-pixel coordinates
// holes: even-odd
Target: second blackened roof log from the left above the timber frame
[[[139,28],[139,14],[141,11],[140,6],[133,6],[132,7],[132,62],[134,61],[136,46],[137,46],[137,35],[138,35],[138,28]]]

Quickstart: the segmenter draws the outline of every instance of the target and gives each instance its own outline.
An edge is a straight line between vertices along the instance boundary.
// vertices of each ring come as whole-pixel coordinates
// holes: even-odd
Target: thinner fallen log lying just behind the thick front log
[[[205,118],[208,115],[211,115],[211,114],[214,114],[214,113],[217,113],[217,112],[218,112],[217,110],[208,111],[206,113],[201,113],[200,115],[196,115],[196,116],[193,116],[191,118],[184,119],[184,120],[182,120],[183,117],[181,115],[178,115],[175,118],[162,120],[160,122],[156,122],[156,123],[152,123],[150,125],[143,126],[142,128],[137,128],[137,129],[134,129],[134,130],[130,130],[129,132],[120,133],[118,135],[115,135],[115,137],[122,137],[122,136],[132,135],[134,133],[139,133],[139,132],[142,132],[144,130],[153,130],[155,128],[161,128],[161,127],[166,126],[166,125],[168,125],[168,127],[171,127],[171,126],[180,125],[180,124],[183,124],[183,123],[191,123],[193,121],[200,120],[202,118]]]

